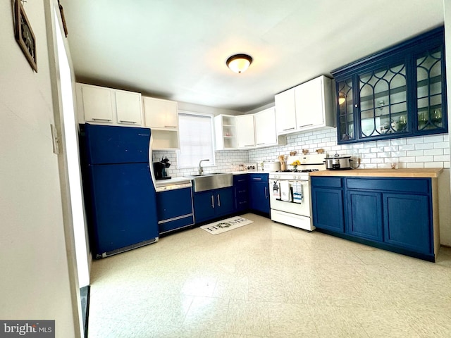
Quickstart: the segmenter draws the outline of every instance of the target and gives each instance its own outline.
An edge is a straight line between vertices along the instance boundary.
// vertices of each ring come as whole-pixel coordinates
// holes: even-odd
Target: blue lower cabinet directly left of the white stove
[[[252,211],[269,215],[268,174],[249,174],[249,208]]]

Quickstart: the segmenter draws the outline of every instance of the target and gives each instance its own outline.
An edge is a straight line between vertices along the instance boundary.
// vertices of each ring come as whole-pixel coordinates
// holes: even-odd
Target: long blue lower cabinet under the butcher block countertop
[[[311,177],[311,195],[319,231],[435,260],[430,178]]]

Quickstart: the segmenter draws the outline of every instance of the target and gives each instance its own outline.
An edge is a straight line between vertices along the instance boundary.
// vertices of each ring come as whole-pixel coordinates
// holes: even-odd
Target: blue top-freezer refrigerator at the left
[[[158,241],[148,128],[80,125],[85,204],[93,256]]]

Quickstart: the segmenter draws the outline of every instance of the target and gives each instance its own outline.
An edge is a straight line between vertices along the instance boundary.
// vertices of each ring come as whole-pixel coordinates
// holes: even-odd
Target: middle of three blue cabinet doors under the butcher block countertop
[[[382,194],[347,191],[347,233],[382,242]]]

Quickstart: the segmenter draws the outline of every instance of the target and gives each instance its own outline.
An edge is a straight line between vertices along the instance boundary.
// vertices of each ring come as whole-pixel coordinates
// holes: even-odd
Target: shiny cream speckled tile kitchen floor
[[[451,249],[429,263],[243,217],[94,261],[89,337],[451,337]]]

